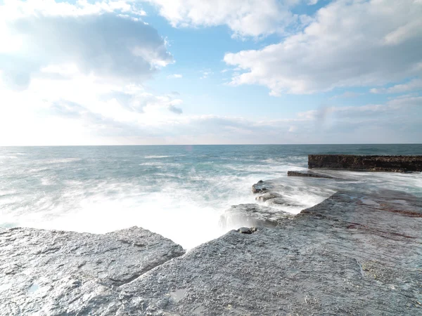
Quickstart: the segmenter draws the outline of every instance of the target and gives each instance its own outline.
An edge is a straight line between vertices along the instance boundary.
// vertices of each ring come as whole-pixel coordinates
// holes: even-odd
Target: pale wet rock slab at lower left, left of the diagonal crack
[[[136,227],[105,235],[0,230],[0,315],[108,315],[123,304],[119,286],[182,254]]]

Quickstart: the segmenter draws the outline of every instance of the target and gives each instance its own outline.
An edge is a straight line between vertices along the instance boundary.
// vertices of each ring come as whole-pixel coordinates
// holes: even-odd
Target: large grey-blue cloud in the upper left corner
[[[14,13],[15,6],[19,14]],[[34,76],[60,78],[77,72],[140,82],[173,62],[153,27],[120,14],[142,14],[124,1],[92,5],[82,1],[75,6],[6,1],[0,12],[0,41],[6,47],[0,49],[0,68],[14,88],[27,88]],[[73,73],[63,72],[65,67]]]

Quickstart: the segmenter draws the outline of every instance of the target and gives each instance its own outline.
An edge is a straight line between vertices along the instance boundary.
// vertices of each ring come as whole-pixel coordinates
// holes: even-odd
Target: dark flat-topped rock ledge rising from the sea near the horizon
[[[422,171],[422,156],[354,156],[351,154],[309,154],[308,167],[361,169],[371,171]]]

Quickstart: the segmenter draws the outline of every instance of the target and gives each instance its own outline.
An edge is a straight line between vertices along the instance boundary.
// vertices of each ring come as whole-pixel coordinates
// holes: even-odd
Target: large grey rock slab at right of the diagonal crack
[[[138,315],[421,315],[421,208],[421,199],[391,192],[339,192],[276,228],[231,231],[124,284],[125,308],[139,308]]]

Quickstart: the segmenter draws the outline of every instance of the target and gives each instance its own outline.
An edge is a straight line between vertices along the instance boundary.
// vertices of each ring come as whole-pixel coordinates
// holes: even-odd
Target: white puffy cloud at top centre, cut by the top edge
[[[227,25],[234,37],[260,37],[295,21],[296,0],[144,0],[158,7],[173,27]]]

